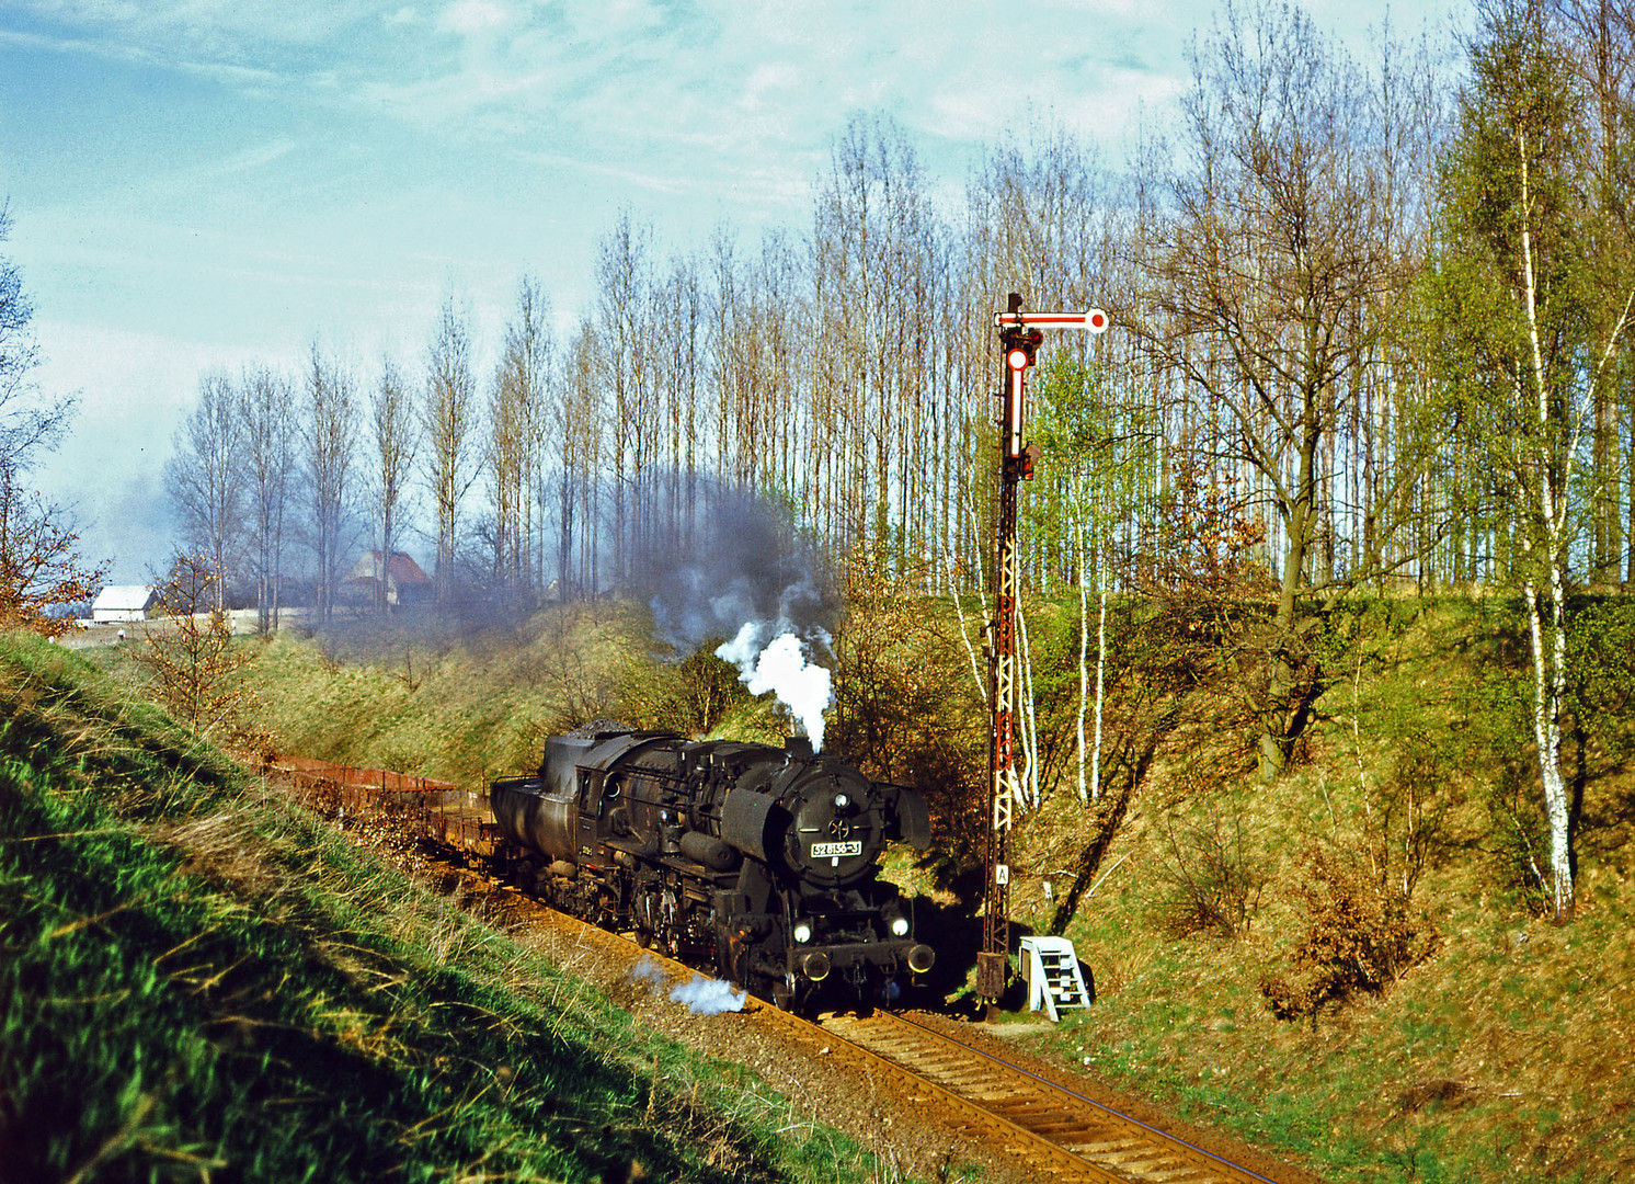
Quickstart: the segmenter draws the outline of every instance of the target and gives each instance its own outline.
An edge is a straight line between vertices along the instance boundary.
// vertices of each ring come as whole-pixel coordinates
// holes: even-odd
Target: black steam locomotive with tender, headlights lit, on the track
[[[780,1007],[889,1001],[932,966],[876,875],[888,842],[929,845],[924,798],[804,738],[551,736],[538,777],[489,798],[525,888]]]

